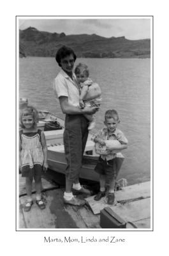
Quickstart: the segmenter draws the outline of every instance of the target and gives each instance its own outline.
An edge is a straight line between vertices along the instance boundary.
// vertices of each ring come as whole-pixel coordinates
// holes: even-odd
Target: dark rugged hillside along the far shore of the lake
[[[124,36],[105,38],[92,35],[65,35],[27,28],[19,31],[20,57],[53,57],[62,45],[82,58],[150,58],[151,40],[128,40]]]

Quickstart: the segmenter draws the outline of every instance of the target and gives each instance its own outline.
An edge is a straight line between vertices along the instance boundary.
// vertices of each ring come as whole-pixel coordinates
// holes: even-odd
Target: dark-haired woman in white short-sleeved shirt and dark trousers
[[[88,121],[84,114],[94,114],[97,108],[80,109],[80,88],[73,73],[76,59],[77,56],[71,48],[62,46],[57,51],[55,60],[62,69],[55,77],[54,91],[59,98],[62,113],[66,114],[63,140],[67,166],[63,200],[65,204],[84,205],[84,200],[73,196],[72,188],[79,193],[91,194],[91,191],[80,186],[79,172],[88,136]]]

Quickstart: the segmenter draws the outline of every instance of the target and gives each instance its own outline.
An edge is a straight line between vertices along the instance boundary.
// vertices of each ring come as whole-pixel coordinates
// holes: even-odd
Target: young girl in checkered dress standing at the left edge
[[[33,205],[31,198],[33,178],[36,188],[36,204],[40,209],[45,209],[45,204],[41,198],[41,173],[48,168],[47,144],[45,134],[36,127],[38,122],[38,111],[27,106],[20,113],[19,131],[19,165],[22,177],[26,177],[27,202],[24,211],[30,211]]]

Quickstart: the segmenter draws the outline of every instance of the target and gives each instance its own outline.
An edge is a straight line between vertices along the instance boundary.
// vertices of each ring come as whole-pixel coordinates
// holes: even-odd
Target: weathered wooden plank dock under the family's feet
[[[24,179],[20,177],[20,209],[19,223],[20,230],[33,229],[74,229],[74,228],[101,228],[99,225],[99,212],[104,207],[112,208],[126,221],[133,221],[138,228],[151,228],[151,189],[150,182],[135,184],[116,191],[116,204],[107,205],[105,198],[99,202],[93,199],[94,196],[85,198],[87,204],[83,207],[65,205],[62,201],[64,188],[42,179],[43,199],[46,209],[40,210],[35,202],[30,212],[24,212],[26,202],[26,189]],[[80,196],[80,195],[79,195]],[[84,198],[83,195],[80,198]],[[128,227],[132,228],[132,227]]]

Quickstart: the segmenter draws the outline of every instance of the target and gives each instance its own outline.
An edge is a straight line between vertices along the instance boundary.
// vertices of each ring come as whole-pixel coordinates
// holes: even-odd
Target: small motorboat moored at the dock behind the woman
[[[66,159],[64,156],[63,145],[64,120],[48,111],[39,111],[39,113],[40,121],[38,122],[38,127],[40,127],[40,129],[42,129],[45,133],[48,149],[48,166],[51,170],[64,174],[66,169]],[[51,124],[52,122],[57,122],[57,124],[59,124],[59,129],[46,131],[45,125],[48,123]],[[90,132],[87,138],[84,156],[82,157],[80,178],[99,181],[98,173],[94,172],[94,167],[96,166],[99,155],[95,152],[92,136],[93,134]],[[117,158],[118,157],[119,159],[124,158],[121,153],[117,153]]]

